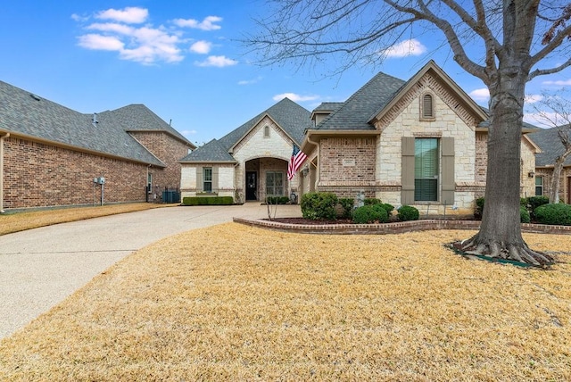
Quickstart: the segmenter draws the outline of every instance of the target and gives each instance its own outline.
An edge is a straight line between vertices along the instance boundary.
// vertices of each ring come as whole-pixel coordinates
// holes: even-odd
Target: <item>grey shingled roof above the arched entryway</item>
[[[294,140],[296,145],[300,145],[305,129],[311,126],[310,115],[311,113],[299,104],[294,103],[289,98],[284,98],[219,140],[213,139],[206,145],[198,147],[180,162],[236,162],[229,154],[230,149],[265,116],[274,120],[284,130],[285,134]]]

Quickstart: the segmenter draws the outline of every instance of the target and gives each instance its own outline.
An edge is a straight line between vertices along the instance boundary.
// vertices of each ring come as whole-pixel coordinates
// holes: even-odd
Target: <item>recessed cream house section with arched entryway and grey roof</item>
[[[213,139],[182,161],[181,194],[232,196],[236,203],[298,193],[287,180],[294,145],[310,128],[310,112],[285,98],[225,137]]]

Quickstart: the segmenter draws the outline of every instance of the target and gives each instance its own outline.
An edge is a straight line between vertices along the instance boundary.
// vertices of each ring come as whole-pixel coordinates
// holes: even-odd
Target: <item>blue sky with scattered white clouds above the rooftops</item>
[[[312,110],[343,101],[384,71],[409,79],[429,59],[487,105],[484,84],[452,61],[438,38],[394,46],[382,67],[260,67],[238,42],[263,16],[263,0],[5,1],[0,5],[0,79],[78,112],[145,104],[190,141],[219,138],[283,96]],[[440,38],[440,37],[439,37]],[[410,49],[412,47],[412,49]],[[530,104],[542,89],[571,85],[567,68],[528,84]],[[528,116],[526,120],[534,121]]]

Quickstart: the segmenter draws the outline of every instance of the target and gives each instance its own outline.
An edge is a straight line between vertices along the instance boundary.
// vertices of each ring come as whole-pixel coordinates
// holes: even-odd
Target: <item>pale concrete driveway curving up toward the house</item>
[[[299,205],[272,208],[272,217],[301,214]],[[0,339],[129,253],[163,237],[234,217],[267,218],[268,208],[260,203],[157,208],[0,236]]]

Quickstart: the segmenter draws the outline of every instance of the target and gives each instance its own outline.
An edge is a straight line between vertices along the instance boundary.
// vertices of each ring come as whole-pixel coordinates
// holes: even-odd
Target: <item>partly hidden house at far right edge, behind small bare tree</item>
[[[530,134],[530,137],[541,149],[541,152],[535,155],[535,191],[533,195],[549,196],[555,159],[565,152],[558,136],[558,130],[562,128],[569,130],[568,126],[559,126],[552,129],[540,129]],[[563,170],[559,179],[559,200],[571,204],[571,156],[568,156],[563,163]]]

